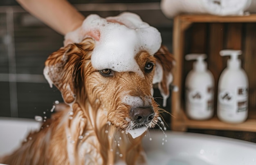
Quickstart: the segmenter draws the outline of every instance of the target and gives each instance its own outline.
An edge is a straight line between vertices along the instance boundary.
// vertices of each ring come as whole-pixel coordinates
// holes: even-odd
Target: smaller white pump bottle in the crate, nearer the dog
[[[186,114],[194,120],[206,120],[213,116],[214,78],[204,62],[205,54],[188,54],[186,60],[194,60],[193,70],[185,80]]]

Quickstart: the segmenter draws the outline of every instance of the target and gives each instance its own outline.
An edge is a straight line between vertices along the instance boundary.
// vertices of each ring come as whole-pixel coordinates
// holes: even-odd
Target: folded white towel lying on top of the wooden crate
[[[162,0],[161,9],[168,18],[180,13],[243,15],[256,11],[256,0]]]

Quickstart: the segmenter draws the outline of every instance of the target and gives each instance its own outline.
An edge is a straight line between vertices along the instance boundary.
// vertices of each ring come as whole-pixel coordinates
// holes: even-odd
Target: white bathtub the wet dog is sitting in
[[[40,123],[0,117],[0,156]],[[218,136],[151,130],[143,141],[149,165],[256,165],[256,144]]]

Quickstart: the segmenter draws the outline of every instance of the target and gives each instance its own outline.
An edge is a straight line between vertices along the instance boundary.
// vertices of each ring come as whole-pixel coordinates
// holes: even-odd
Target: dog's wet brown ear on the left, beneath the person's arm
[[[81,66],[85,55],[94,48],[94,40],[86,38],[80,44],[69,44],[49,55],[45,62],[44,75],[52,87],[61,91],[66,103],[76,99],[75,87],[83,79]],[[89,57],[90,58],[90,57]]]

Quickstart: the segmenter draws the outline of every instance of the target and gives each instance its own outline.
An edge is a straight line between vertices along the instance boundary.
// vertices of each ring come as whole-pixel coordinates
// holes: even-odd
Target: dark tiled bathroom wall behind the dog
[[[159,0],[70,2],[84,15],[96,13],[106,17],[123,11],[137,13],[142,20],[159,29],[163,44],[172,50],[172,20],[165,18],[160,11]],[[13,0],[1,1],[0,5],[0,117],[49,117],[54,101],[61,102],[62,98],[61,93],[55,87],[50,88],[43,77],[44,62],[50,53],[63,45],[63,36]],[[162,99],[157,101],[161,104]],[[166,110],[170,111],[169,104]],[[170,117],[167,118],[166,122],[170,123]]]

